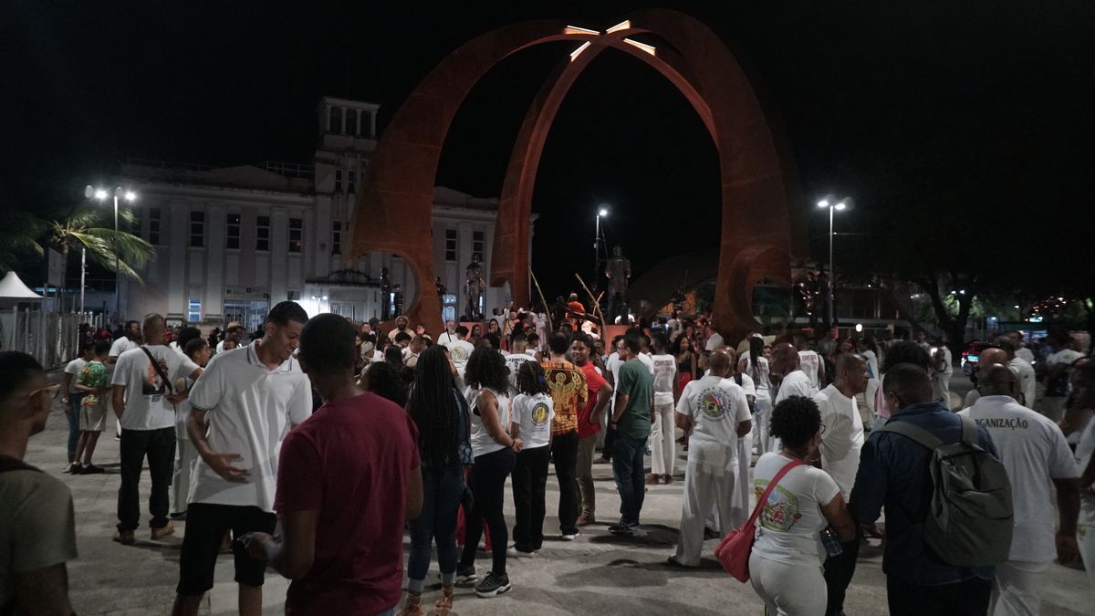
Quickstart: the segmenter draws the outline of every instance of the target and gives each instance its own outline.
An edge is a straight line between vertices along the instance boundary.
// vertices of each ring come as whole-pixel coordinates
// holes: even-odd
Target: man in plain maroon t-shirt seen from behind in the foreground
[[[281,444],[280,537],[241,539],[292,580],[286,614],[374,615],[403,582],[403,524],[422,509],[418,434],[403,409],[354,379],[354,330],[320,315],[300,335],[300,365],[326,400]]]

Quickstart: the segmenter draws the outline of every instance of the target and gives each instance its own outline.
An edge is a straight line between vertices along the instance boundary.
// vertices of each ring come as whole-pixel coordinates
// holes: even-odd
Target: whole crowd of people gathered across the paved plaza
[[[749,570],[770,614],[843,614],[868,538],[884,538],[891,614],[1037,614],[1054,559],[1086,568],[1095,586],[1095,364],[1068,334],[1053,332],[1048,352],[1022,335],[992,341],[977,388],[953,406],[950,352],[923,334],[833,328],[734,345],[710,318],[675,313],[606,340],[575,300],[554,319],[498,310],[437,334],[406,317],[387,331],[310,319],[292,301],[250,335],[234,322],[210,336],[173,331],[150,315],[113,343],[89,336],[60,386],[30,356],[0,353],[0,613],[71,612],[71,495],[22,461],[58,388],[67,472],[102,472],[96,442],[108,408],[117,418],[114,539],[136,541],[146,459],[150,539],[185,520],[180,615],[197,614],[223,551],[241,614],[261,613],[272,567],[291,580],[288,613],[448,615],[457,588],[509,592],[509,559],[598,523],[598,464],[611,465],[620,500],[619,517],[601,512],[609,532],[645,537],[647,487],[677,480],[678,446],[683,498],[666,567],[699,567],[704,540],[740,527],[756,503]],[[960,465],[944,455],[959,449],[1010,479],[971,488],[1006,501],[973,514],[983,537],[970,535],[993,544],[970,539],[973,556],[927,529],[935,470]],[[557,529],[544,527],[551,470]],[[1006,537],[992,535],[1001,520]],[[435,547],[441,588],[427,597]]]

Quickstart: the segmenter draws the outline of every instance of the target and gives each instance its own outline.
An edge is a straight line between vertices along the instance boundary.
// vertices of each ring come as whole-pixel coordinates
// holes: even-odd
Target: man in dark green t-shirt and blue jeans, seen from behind
[[[615,384],[615,406],[611,425],[616,431],[612,477],[620,492],[620,524],[609,526],[615,535],[642,536],[638,514],[643,510],[646,474],[643,455],[654,421],[654,377],[638,360],[642,343],[627,334],[616,345],[623,365]]]

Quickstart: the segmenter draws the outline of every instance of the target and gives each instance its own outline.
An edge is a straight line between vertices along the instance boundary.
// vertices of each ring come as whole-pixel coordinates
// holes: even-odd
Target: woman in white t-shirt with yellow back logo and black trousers
[[[523,446],[514,466],[514,525],[511,556],[540,551],[544,541],[548,464],[551,459],[551,422],[555,406],[548,395],[548,379],[537,362],[522,362],[517,369],[517,396],[510,404],[509,433]]]

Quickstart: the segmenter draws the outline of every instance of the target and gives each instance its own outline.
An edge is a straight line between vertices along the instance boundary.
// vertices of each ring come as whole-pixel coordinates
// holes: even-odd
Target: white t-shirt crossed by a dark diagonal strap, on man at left
[[[160,370],[171,379],[163,381],[142,349],[148,349]],[[118,355],[111,385],[126,386],[125,411],[122,413],[123,430],[161,430],[175,426],[175,407],[166,395],[174,391],[175,379],[194,374],[198,365],[186,355],[180,355],[163,344],[138,346]]]

